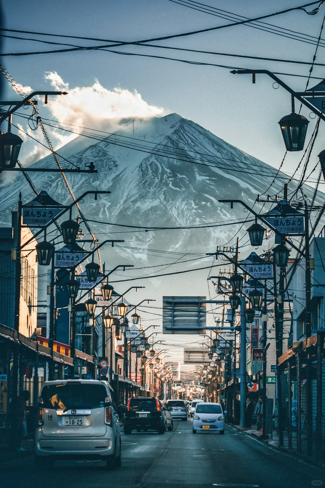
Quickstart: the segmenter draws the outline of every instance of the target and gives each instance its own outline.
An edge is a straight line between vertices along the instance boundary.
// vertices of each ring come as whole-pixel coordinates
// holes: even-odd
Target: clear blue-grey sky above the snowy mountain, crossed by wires
[[[257,0],[228,0],[227,2],[202,0],[202,2],[249,18],[299,4],[298,0],[271,3]],[[227,20],[197,12],[169,0],[93,0],[92,2],[4,0],[2,8],[4,24],[7,28],[123,41],[146,39],[228,23]],[[308,7],[308,10],[311,9],[312,7]],[[296,11],[273,17],[266,22],[317,37],[324,14],[325,6],[316,16],[308,16],[303,11]],[[26,35],[26,37],[34,36]],[[49,40],[45,37],[40,39]],[[59,39],[54,41],[60,42]],[[67,42],[77,45],[96,44],[80,40]],[[247,26],[159,41],[156,44],[303,61],[311,61],[315,51],[314,45]],[[1,51],[19,52],[48,48],[51,48],[51,45],[3,39]],[[272,71],[301,75],[307,75],[309,69],[306,65],[182,53],[149,47],[126,46],[117,49],[124,52],[156,54],[239,67],[267,68]],[[316,61],[324,62],[324,53],[325,48],[320,47]],[[177,112],[275,167],[279,166],[284,155],[284,143],[277,122],[290,112],[290,98],[283,89],[274,90],[272,81],[266,76],[259,76],[257,83],[253,85],[249,76],[231,75],[229,69],[121,56],[102,51],[19,58],[4,57],[2,64],[16,81],[33,89],[49,89],[50,81],[45,79],[45,74],[57,72],[63,82],[68,83],[68,91],[76,87],[93,87],[96,80],[109,93],[114,93],[115,88],[128,90],[131,93],[136,90],[146,104],[162,107],[165,113]],[[325,77],[324,68],[315,67],[313,75]],[[297,90],[305,88],[306,78],[289,76],[282,78]],[[316,80],[311,80],[309,86],[316,83]],[[83,95],[85,94],[84,91]],[[3,94],[4,98],[9,96],[13,98],[12,89],[8,89]],[[40,104],[41,113],[52,118],[54,114],[59,115],[57,104],[52,112]],[[89,107],[89,111],[93,111],[94,118],[98,115],[98,110],[96,103],[93,107]],[[303,109],[302,113],[308,117],[309,111]],[[100,116],[102,117],[103,114]],[[315,122],[310,120],[309,134],[314,124]],[[324,132],[321,124],[311,164],[317,162],[317,150],[324,149],[322,141],[324,141]],[[300,153],[290,154],[284,169],[288,172],[293,171],[301,156]]]

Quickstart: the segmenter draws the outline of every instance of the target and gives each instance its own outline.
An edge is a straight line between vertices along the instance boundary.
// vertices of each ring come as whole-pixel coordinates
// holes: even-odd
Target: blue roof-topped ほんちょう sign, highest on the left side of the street
[[[65,208],[46,191],[41,191],[31,202],[22,205],[22,225],[42,227],[55,219]]]

